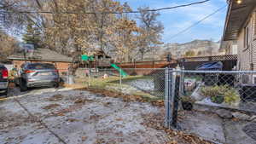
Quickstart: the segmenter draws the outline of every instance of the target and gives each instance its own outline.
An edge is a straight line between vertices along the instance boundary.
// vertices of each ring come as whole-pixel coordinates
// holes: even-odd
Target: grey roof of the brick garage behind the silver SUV
[[[15,55],[10,55],[9,60],[38,60],[38,61],[56,61],[56,62],[71,62],[72,58],[66,55],[61,55],[50,49],[35,49],[31,53],[26,54],[26,58],[22,52]]]

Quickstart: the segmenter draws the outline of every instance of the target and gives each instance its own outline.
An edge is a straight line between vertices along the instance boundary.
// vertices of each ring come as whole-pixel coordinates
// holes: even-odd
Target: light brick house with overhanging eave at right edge
[[[229,8],[221,47],[231,53],[237,49],[238,70],[255,71],[256,0],[228,0],[227,3]]]

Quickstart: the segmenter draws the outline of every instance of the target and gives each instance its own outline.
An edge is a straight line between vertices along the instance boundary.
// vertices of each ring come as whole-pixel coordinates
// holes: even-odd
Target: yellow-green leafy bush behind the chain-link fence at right
[[[201,89],[201,94],[210,97],[212,102],[218,104],[224,102],[233,105],[240,101],[240,95],[237,93],[236,89],[231,88],[228,85],[203,87]]]

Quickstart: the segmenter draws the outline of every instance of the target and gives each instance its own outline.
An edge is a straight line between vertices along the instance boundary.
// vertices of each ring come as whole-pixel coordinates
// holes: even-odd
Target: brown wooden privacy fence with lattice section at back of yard
[[[201,66],[201,64],[210,61],[221,61],[224,64],[224,71],[231,71],[234,66],[236,66],[237,55],[214,55],[214,56],[201,56],[201,57],[186,57],[184,59],[184,67],[186,70],[195,70],[196,67]],[[177,61],[172,60],[172,62],[167,62],[166,60],[154,60],[154,61],[134,61],[134,62],[124,62],[116,63],[121,68],[165,68],[166,66],[176,67]],[[143,71],[143,70],[142,70]]]

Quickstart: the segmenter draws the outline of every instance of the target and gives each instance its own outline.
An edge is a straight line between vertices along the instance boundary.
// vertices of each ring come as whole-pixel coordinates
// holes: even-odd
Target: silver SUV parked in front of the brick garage
[[[25,63],[20,66],[18,77],[15,78],[21,91],[32,87],[58,87],[59,82],[59,72],[53,64],[48,63]]]

